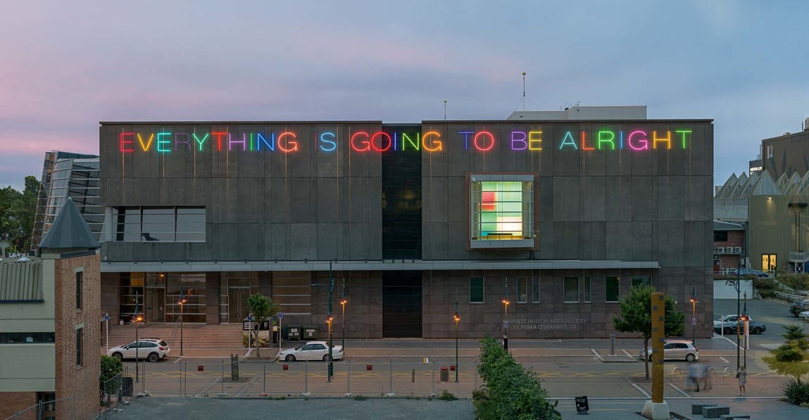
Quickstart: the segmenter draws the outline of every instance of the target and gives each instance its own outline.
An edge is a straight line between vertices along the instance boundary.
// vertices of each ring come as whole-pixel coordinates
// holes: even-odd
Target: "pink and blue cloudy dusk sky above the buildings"
[[[5,2],[0,186],[99,121],[714,120],[714,184],[809,116],[809,2]]]

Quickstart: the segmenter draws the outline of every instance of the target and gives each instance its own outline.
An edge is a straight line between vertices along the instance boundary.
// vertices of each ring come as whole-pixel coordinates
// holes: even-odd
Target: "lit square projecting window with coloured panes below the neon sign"
[[[470,177],[469,241],[472,248],[534,246],[534,176]]]

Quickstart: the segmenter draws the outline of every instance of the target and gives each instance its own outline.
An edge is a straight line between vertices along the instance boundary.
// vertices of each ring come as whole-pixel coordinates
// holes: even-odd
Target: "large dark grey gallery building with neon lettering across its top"
[[[712,120],[646,107],[103,122],[102,311],[172,322],[182,292],[185,322],[240,325],[261,293],[321,336],[331,307],[337,337],[455,337],[457,312],[464,338],[591,338],[650,283],[688,315],[696,290],[708,337],[713,149]]]

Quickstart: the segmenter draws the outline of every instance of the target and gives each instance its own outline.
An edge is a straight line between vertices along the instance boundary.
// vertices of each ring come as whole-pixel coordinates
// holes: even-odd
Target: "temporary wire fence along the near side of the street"
[[[218,363],[138,363],[104,384],[107,412],[130,398],[150,397],[472,397],[481,387],[477,361],[439,364],[284,362],[222,359]],[[456,382],[457,380],[457,382]]]

